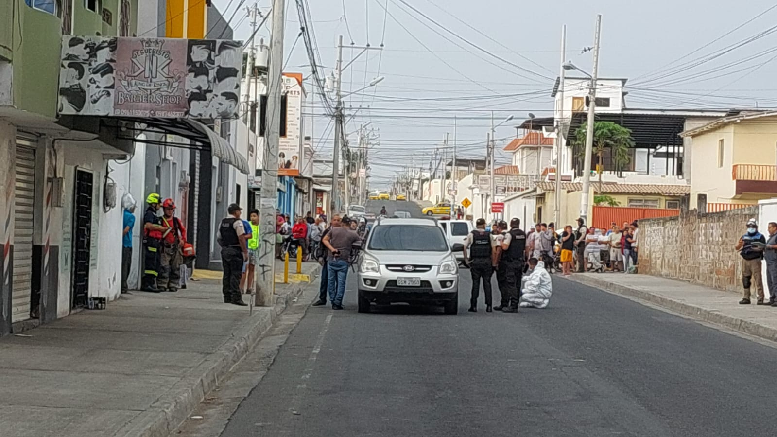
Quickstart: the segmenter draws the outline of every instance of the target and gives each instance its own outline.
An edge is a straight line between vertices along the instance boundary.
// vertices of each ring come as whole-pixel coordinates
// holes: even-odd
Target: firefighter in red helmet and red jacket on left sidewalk
[[[181,277],[181,248],[186,243],[186,229],[181,221],[173,214],[176,211],[176,203],[172,199],[162,202],[162,215],[160,224],[165,228],[162,232],[162,264],[159,268],[159,291],[177,292]]]

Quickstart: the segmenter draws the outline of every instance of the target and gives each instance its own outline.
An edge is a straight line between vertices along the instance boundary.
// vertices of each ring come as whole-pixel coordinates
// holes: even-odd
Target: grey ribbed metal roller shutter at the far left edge
[[[14,190],[11,320],[18,322],[30,318],[30,295],[33,282],[35,149],[16,145]]]

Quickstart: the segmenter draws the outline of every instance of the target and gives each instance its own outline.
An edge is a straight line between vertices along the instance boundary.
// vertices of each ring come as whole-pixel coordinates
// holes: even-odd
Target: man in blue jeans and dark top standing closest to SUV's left
[[[340,221],[340,216],[335,215],[332,222]],[[348,260],[350,259],[351,246],[361,238],[356,231],[350,229],[350,222],[343,220],[339,227],[332,230],[322,239],[322,243],[329,249],[327,257],[327,269],[329,269],[329,300],[332,301],[332,309],[343,309],[343,295],[345,283],[348,278]]]

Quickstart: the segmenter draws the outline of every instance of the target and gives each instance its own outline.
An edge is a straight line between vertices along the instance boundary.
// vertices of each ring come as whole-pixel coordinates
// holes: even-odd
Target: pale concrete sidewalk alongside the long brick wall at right
[[[684,316],[743,334],[777,341],[777,308],[739,305],[742,296],[647,274],[584,273],[568,277],[580,284],[639,299]]]

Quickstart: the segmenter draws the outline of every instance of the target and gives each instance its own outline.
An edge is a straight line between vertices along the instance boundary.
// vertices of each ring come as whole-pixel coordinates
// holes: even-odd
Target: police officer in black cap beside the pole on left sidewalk
[[[240,293],[242,266],[248,260],[246,228],[240,219],[242,208],[237,204],[229,205],[229,215],[218,226],[218,244],[221,246],[221,267],[224,277],[221,279],[221,293],[224,303],[246,306]]]

